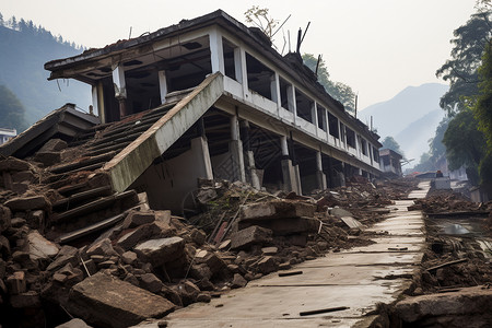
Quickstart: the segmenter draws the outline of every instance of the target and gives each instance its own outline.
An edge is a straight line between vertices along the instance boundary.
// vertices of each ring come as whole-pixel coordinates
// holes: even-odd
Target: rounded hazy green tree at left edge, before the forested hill
[[[27,128],[24,119],[24,106],[4,85],[0,85],[0,122],[1,128],[16,129],[22,132]]]

